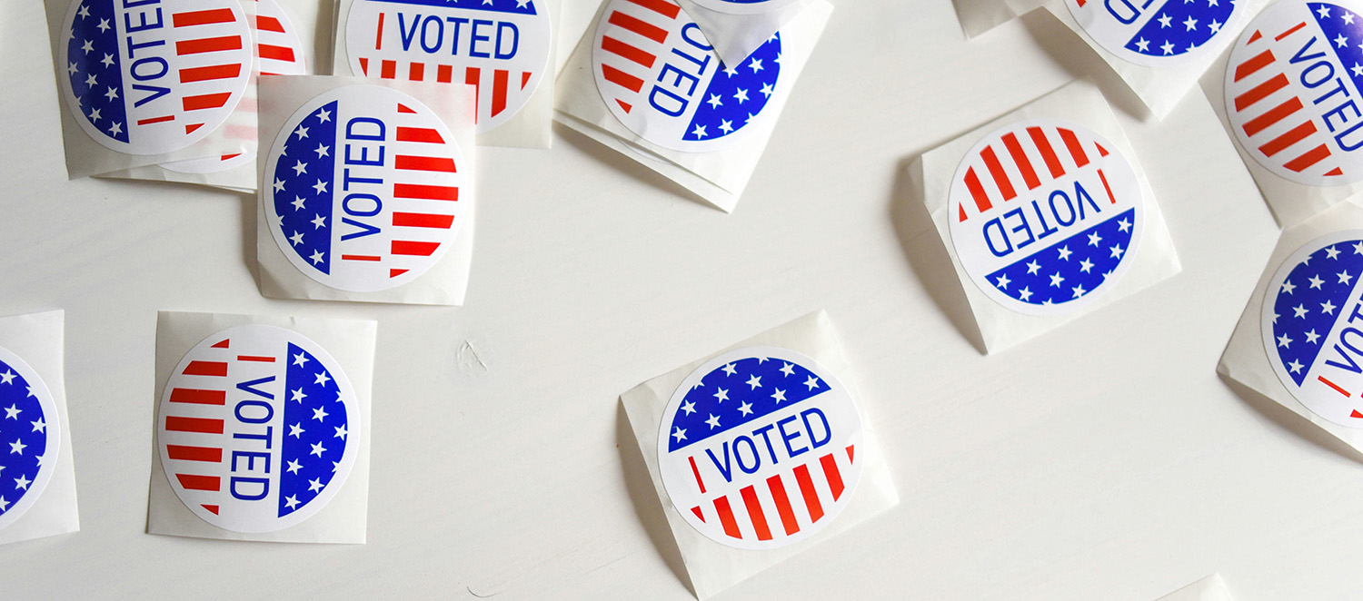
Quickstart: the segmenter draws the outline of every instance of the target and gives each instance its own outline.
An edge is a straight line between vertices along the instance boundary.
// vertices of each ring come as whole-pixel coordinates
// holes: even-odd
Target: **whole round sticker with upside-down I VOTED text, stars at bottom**
[[[1029,315],[1066,313],[1131,264],[1145,198],[1135,170],[1097,132],[1036,119],[984,136],[951,180],[949,230],[984,293]]]

